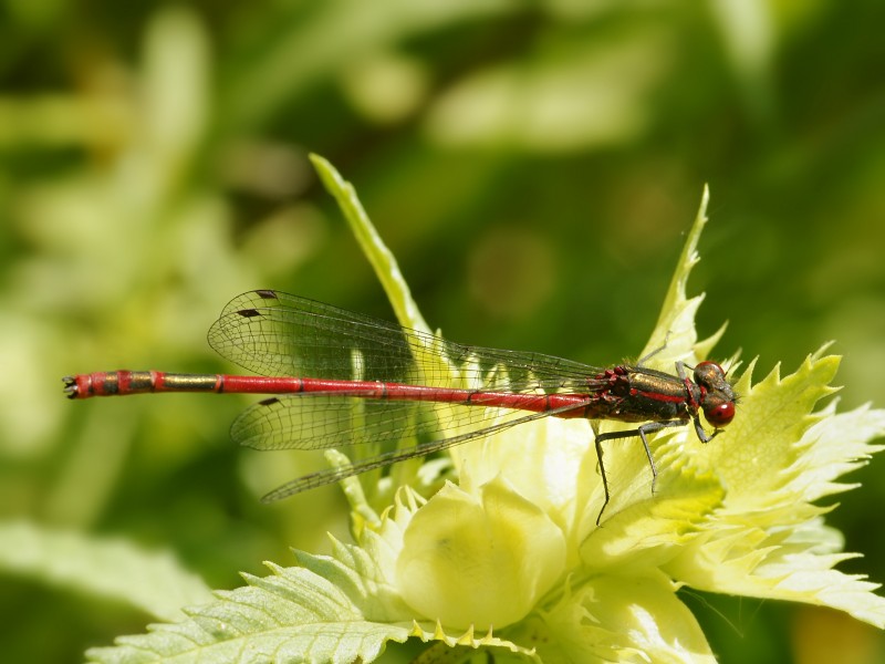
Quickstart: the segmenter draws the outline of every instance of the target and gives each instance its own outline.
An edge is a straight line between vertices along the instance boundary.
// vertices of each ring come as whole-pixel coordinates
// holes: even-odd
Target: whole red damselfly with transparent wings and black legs
[[[325,449],[355,444],[399,447],[351,466],[292,480],[272,501],[346,477],[447,449],[541,417],[637,423],[595,435],[605,501],[602,444],[638,437],[657,468],[648,434],[694,424],[708,443],[735,416],[722,367],[700,362],[693,377],[637,365],[593,367],[539,353],[461,345],[305,298],[257,290],[231,300],[209,344],[258,376],[115,371],[64,378],[70,398],[148,392],[274,394],[237,417],[232,438],[256,449]],[[694,378],[694,380],[693,380]],[[715,428],[708,434],[702,412]],[[403,447],[404,440],[412,442]]]

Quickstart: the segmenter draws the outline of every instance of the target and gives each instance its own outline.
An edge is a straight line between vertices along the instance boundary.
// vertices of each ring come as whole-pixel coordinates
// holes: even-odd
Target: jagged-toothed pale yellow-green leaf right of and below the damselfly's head
[[[665,569],[697,589],[832,606],[885,627],[878,585],[832,569],[854,554],[824,525],[827,508],[811,504],[847,488],[835,478],[883,448],[868,440],[885,434],[885,412],[814,413],[839,366],[822,352],[783,378],[775,367],[751,386],[751,365],[738,381],[738,417],[694,455],[727,488],[723,507]]]

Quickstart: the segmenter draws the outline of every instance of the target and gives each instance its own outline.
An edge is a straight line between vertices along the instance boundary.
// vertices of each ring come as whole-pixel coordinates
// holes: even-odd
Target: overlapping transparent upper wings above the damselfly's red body
[[[209,344],[228,360],[267,376],[447,384],[451,376],[442,364],[434,369],[416,363],[416,351],[427,349],[457,366],[471,385],[487,385],[491,370],[504,369],[511,392],[586,392],[601,371],[540,353],[442,341],[272,290],[250,291],[231,300],[209,330]]]

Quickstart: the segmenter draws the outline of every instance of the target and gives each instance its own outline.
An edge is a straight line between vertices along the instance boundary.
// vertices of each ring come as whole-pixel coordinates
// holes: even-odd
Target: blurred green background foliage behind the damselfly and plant
[[[253,288],[389,318],[308,152],[447,336],[594,364],[644,344],[709,183],[701,334],[728,320],[721,355],[759,377],[834,339],[842,407],[885,406],[883,25],[877,0],[4,0],[4,521],[171,551],[214,588],[346,537],[334,488],[258,502],[323,461],[236,449],[254,400],[71,403],[60,382],[231,370],[205,332]],[[830,518],[866,558],[842,569],[883,581],[885,463],[851,479]],[[12,569],[4,661],[79,661],[149,620]],[[839,614],[685,599],[722,662],[885,661]]]

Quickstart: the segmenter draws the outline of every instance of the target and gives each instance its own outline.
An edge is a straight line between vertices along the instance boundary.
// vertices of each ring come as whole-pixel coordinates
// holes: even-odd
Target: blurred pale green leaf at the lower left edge
[[[0,569],[124,602],[162,620],[178,620],[181,606],[211,596],[168,552],[23,521],[0,523]]]

